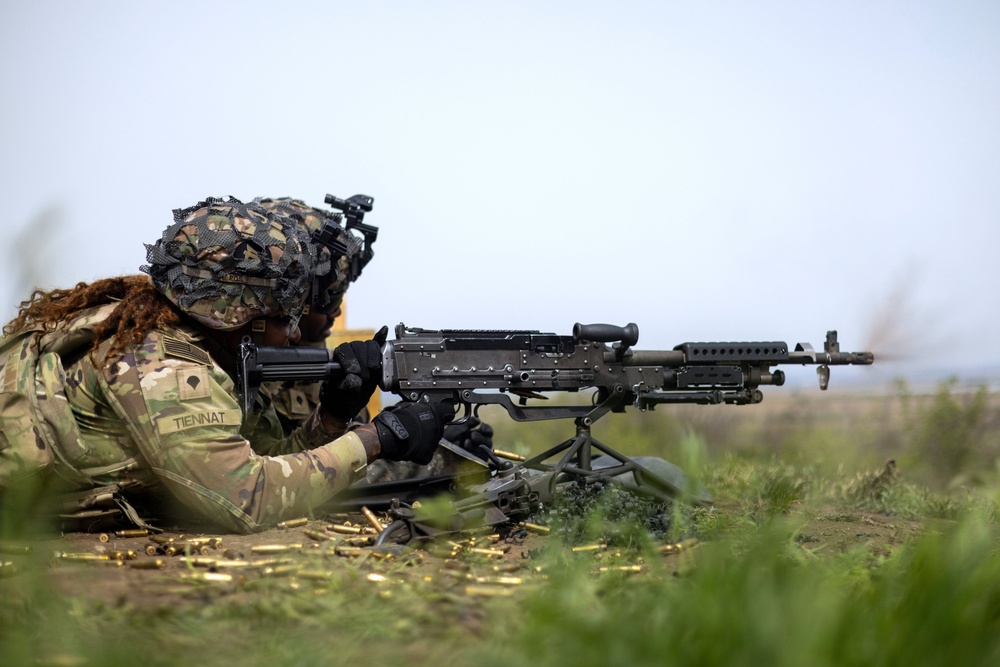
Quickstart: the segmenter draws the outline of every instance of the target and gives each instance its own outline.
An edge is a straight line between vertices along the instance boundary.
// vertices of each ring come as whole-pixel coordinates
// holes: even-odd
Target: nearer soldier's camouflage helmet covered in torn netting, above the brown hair
[[[310,243],[295,221],[233,197],[175,210],[162,238],[146,244],[146,261],[156,288],[212,329],[297,320],[313,274]]]

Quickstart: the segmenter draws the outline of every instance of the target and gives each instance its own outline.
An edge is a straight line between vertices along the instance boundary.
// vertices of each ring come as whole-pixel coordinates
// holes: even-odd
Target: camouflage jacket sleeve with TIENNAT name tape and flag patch
[[[256,453],[229,376],[183,332],[153,332],[103,373],[113,409],[152,471],[186,506],[240,532],[302,516],[366,471],[361,440],[302,432]]]

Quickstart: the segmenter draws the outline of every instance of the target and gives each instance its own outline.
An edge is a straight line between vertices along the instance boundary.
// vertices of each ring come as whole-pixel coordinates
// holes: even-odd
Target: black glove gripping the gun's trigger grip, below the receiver
[[[382,444],[379,457],[427,465],[444,425],[454,418],[455,408],[447,403],[406,403],[383,410],[372,420]]]

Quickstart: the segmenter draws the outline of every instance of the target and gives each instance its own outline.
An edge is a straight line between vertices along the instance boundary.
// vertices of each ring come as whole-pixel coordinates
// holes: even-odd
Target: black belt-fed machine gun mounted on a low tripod
[[[382,348],[379,386],[404,401],[462,406],[465,414],[456,423],[477,414],[483,405],[499,405],[520,422],[575,420],[573,438],[513,470],[497,466],[497,479],[480,489],[478,499],[460,501],[479,510],[485,501],[491,508],[505,506],[521,512],[550,499],[556,484],[567,478],[590,481],[629,472],[635,490],[641,493],[697,501],[677,484],[595,440],[593,423],[609,412],[624,412],[629,405],[651,410],[664,403],[759,403],[763,400],[760,387],[784,384],[784,372],[773,368],[782,365],[817,366],[820,388],[825,390],[830,366],[874,361],[871,352],[841,352],[836,331],[827,333],[822,351],[807,343],[789,349],[777,341],[683,343],[672,350],[636,350],[639,328],[635,324],[576,324],[570,336],[520,330],[436,331],[399,324],[395,334]],[[254,405],[261,382],[318,382],[337,377],[341,370],[331,358],[332,350],[322,348],[245,343],[237,378],[244,413]],[[587,389],[594,390],[589,405],[537,404],[549,392]],[[618,465],[595,470],[593,449]],[[547,463],[557,455],[557,462]],[[543,474],[525,475],[526,470]]]

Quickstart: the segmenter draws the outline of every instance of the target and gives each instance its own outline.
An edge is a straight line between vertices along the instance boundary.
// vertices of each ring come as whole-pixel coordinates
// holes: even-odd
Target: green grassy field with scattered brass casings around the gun
[[[572,435],[566,422],[486,419],[498,447],[523,453]],[[609,415],[594,435],[682,465],[714,507],[660,508],[654,537],[612,494],[582,517],[535,517],[546,535],[387,557],[338,553],[342,537],[306,530],[343,517],[314,517],[219,536],[197,554],[214,566],[176,533],[187,560],[146,555],[141,537],[7,536],[0,664],[1000,660],[996,395],[947,384],[920,397],[769,395]],[[254,550],[269,545],[288,550]],[[121,565],[52,557],[128,550]],[[162,569],[134,567],[157,558]]]

